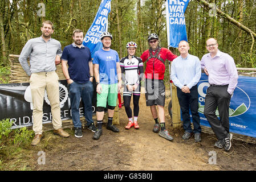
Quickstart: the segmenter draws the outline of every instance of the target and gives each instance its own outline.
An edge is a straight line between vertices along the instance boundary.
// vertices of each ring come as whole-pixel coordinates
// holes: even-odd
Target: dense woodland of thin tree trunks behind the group
[[[44,20],[54,23],[52,38],[59,40],[62,49],[72,43],[72,31],[76,28],[85,33],[91,26],[101,0],[1,0],[0,2],[0,72],[9,68],[9,54],[21,53],[27,40],[42,34]],[[209,7],[214,3],[224,14],[209,16]],[[39,3],[46,6],[45,16],[39,16]],[[238,24],[231,23],[233,18]],[[185,11],[186,30],[190,54],[207,53],[205,41],[217,38],[221,51],[234,57],[237,67],[256,68],[256,1],[255,0],[190,0]],[[167,47],[164,0],[112,0],[108,16],[108,31],[114,39],[112,49],[120,58],[127,54],[129,41],[138,44],[136,55],[148,49],[147,37],[155,32],[160,36],[161,47]],[[250,31],[242,30],[243,26]],[[254,35],[254,34],[255,35]],[[170,48],[178,55],[176,48]],[[166,61],[167,62],[167,61]],[[168,63],[167,63],[168,64]],[[2,71],[4,72],[4,71]]]

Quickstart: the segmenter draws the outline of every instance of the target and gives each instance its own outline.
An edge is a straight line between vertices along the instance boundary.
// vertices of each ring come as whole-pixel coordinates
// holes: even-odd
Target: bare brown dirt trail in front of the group
[[[216,138],[211,134],[202,133],[200,143],[195,143],[193,137],[182,140],[182,128],[173,130],[170,126],[169,101],[166,98],[165,118],[173,142],[153,133],[151,111],[141,94],[139,130],[125,130],[128,119],[123,106],[119,110],[120,133],[107,130],[105,123],[99,140],[92,139],[93,133],[87,129],[80,139],[70,129],[66,129],[71,134],[69,138],[46,132],[39,146],[31,151],[29,166],[33,170],[256,170],[255,144],[234,140],[231,151],[225,152],[213,147]],[[46,155],[45,165],[38,164],[41,150]],[[216,164],[209,164],[214,163],[209,152],[216,152]]]

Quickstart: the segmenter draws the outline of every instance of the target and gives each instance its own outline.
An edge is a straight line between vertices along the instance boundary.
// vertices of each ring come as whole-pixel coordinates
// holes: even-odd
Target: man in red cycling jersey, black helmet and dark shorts
[[[155,119],[153,132],[159,133],[160,137],[173,140],[168,130],[165,129],[165,60],[173,61],[177,56],[169,49],[159,46],[159,36],[150,34],[148,36],[149,49],[141,55],[143,63],[146,63],[145,70],[145,97],[146,104],[150,106],[151,113]],[[159,113],[157,114],[156,105]],[[160,123],[159,123],[160,121]]]

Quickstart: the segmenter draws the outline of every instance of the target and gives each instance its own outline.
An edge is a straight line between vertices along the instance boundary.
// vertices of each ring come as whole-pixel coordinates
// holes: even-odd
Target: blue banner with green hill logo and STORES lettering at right
[[[256,77],[239,76],[238,84],[231,97],[229,107],[230,132],[256,137]],[[200,124],[209,126],[204,115],[206,90],[209,86],[208,76],[202,73],[198,86]],[[216,115],[219,117],[218,110]]]

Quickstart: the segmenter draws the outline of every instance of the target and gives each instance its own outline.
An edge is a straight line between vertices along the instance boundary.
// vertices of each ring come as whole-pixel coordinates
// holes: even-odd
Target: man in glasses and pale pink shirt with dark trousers
[[[229,104],[238,82],[237,68],[233,57],[218,49],[216,39],[208,39],[206,49],[209,53],[202,57],[201,68],[209,76],[210,86],[205,96],[204,114],[218,138],[214,146],[229,151],[233,137],[229,133]],[[220,119],[216,115],[217,107]]]

